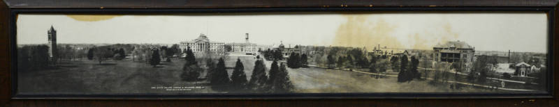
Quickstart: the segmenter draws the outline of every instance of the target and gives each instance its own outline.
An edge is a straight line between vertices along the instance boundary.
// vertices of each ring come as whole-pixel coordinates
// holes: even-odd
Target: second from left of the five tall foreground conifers
[[[237,58],[237,63],[235,63],[235,69],[233,69],[233,73],[231,74],[231,91],[233,92],[240,92],[246,89],[247,85],[247,74],[245,74],[245,67],[240,62],[240,59]]]

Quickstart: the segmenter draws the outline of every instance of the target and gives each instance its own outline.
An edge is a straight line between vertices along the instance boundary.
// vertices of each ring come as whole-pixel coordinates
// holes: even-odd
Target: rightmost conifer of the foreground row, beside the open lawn
[[[273,92],[275,93],[287,93],[291,92],[293,84],[289,80],[289,72],[285,65],[282,63],[279,65],[279,72],[277,72],[276,77],[273,79]]]

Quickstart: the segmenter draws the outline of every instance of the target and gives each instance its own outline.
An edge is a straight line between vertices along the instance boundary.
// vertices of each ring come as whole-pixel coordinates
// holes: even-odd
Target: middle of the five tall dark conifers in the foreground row
[[[264,92],[266,88],[266,82],[268,81],[268,76],[266,76],[266,65],[264,65],[263,60],[258,59],[254,62],[254,69],[252,70],[252,75],[248,83],[248,88],[254,90],[255,92]]]

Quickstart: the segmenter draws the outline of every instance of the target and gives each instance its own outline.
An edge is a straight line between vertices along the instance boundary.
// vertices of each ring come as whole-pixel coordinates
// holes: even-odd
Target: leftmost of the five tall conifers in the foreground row
[[[223,58],[219,58],[215,72],[212,73],[212,79],[210,79],[210,85],[212,85],[212,90],[226,91],[228,90],[228,85],[231,83],[229,81],[229,76],[227,70],[225,69],[225,61]]]

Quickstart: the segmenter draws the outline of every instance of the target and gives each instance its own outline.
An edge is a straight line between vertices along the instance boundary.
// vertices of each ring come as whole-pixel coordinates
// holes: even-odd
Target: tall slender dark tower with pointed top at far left
[[[48,33],[48,55],[50,57],[50,64],[52,65],[56,65],[57,63],[57,58],[58,58],[58,54],[57,54],[57,31],[55,30],[55,27],[50,26],[50,29],[48,29],[47,31]]]

